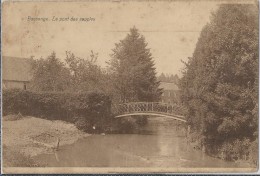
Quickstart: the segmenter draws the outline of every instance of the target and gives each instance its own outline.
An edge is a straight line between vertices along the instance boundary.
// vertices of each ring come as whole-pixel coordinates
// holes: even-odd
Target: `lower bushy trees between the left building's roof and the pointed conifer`
[[[97,65],[98,54],[88,58],[66,52],[65,62],[52,53],[46,59],[35,59],[32,65],[31,89],[36,91],[105,91],[107,74]]]

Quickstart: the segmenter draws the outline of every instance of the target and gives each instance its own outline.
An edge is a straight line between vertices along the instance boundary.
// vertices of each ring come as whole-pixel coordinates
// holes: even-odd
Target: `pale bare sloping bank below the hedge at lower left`
[[[71,123],[19,115],[3,117],[2,133],[5,167],[37,166],[31,157],[51,153],[57,145],[72,144],[89,136]]]

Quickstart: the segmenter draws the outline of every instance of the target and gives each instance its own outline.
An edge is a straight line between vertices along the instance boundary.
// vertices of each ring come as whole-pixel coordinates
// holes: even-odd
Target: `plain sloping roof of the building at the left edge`
[[[32,64],[27,58],[2,57],[2,79],[5,81],[30,81]]]

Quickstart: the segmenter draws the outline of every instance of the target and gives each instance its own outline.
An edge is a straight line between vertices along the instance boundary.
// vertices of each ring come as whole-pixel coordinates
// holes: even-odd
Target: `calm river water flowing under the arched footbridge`
[[[35,160],[52,167],[241,167],[193,149],[176,123],[149,118],[137,134],[91,135]]]

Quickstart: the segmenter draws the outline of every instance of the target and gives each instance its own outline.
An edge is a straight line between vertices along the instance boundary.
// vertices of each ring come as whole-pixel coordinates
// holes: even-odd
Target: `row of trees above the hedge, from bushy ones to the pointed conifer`
[[[66,52],[64,62],[52,53],[33,61],[32,89],[37,91],[102,91],[115,102],[155,101],[161,90],[150,49],[134,27],[115,44],[107,69],[97,64],[98,54],[87,58]]]

